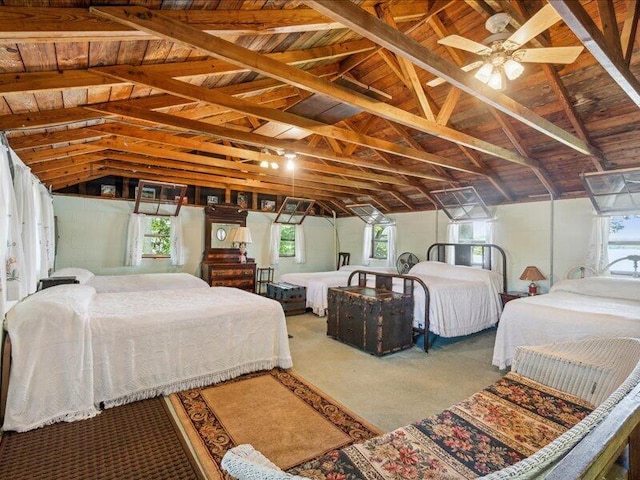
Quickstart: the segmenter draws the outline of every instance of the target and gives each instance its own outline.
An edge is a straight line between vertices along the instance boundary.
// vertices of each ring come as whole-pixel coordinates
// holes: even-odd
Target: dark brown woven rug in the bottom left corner
[[[0,441],[0,478],[196,480],[202,476],[165,401],[152,398]]]

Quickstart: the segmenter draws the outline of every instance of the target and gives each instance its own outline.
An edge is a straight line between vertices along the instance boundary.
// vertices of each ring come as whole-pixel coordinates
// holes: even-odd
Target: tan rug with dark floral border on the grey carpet
[[[250,443],[289,469],[381,432],[290,371],[274,369],[170,396],[208,478],[225,452]]]

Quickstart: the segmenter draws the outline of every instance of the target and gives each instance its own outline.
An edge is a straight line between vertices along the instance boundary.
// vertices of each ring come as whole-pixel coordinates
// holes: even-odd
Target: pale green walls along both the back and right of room
[[[564,278],[567,270],[584,263],[591,232],[593,210],[588,199],[558,200],[553,203],[555,228],[553,240],[554,281]],[[172,267],[168,259],[144,259],[140,267],[125,267],[124,249],[127,221],[133,202],[100,198],[54,195],[54,212],[58,218],[58,254],[56,268],[83,267],[96,274],[183,271],[200,274],[204,248],[204,210],[185,206],[181,209],[185,236],[186,264]],[[545,276],[551,271],[551,202],[531,202],[495,208],[494,243],[504,248],[508,261],[508,288],[525,291],[528,282],[518,277],[527,265],[535,265]],[[247,225],[253,243],[249,256],[258,266],[267,266],[269,231],[275,214],[249,212]],[[396,220],[397,254],[413,252],[423,260],[429,245],[444,242],[448,218],[442,212],[415,212],[390,215]],[[307,262],[296,264],[282,258],[276,266],[275,279],[287,272],[326,271],[335,269],[332,222],[320,217],[304,221]],[[351,253],[351,263],[362,263],[364,223],[359,218],[337,221],[339,251]],[[380,264],[382,262],[378,262]],[[376,263],[372,261],[372,264]],[[539,282],[547,291],[550,281]]]

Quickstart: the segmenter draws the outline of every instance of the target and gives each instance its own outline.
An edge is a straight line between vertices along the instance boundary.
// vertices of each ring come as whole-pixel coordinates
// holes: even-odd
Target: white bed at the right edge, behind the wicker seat
[[[640,338],[640,280],[562,280],[546,295],[510,301],[500,317],[493,364],[501,369],[511,365],[520,345],[594,336]]]

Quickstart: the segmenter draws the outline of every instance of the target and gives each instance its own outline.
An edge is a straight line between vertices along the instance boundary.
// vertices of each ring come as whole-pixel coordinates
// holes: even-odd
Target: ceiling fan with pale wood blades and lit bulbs
[[[449,35],[438,40],[441,45],[459,48],[482,57],[462,67],[465,72],[478,68],[474,75],[495,90],[502,90],[506,80],[515,80],[524,72],[522,63],[573,63],[584,47],[520,48],[538,34],[560,20],[560,15],[550,4],[541,8],[515,33],[506,31],[511,17],[507,13],[497,13],[487,19],[485,28],[491,33],[482,43],[460,35]],[[436,78],[427,83],[435,87],[444,83]]]

